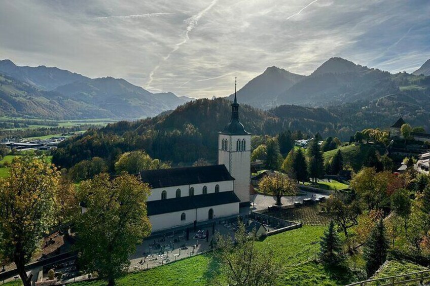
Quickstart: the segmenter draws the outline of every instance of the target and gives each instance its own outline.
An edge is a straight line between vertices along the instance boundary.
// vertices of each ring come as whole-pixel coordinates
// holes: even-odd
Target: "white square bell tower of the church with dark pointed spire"
[[[239,104],[236,99],[231,104],[231,119],[223,131],[218,133],[218,164],[224,164],[234,180],[234,193],[240,205],[249,203],[251,163],[251,134],[245,131],[239,121]]]

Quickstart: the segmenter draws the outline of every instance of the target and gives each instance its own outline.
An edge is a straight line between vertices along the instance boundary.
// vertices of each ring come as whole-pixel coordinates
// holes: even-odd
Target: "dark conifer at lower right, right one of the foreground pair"
[[[388,240],[385,238],[385,227],[381,219],[370,232],[363,250],[363,258],[366,261],[366,272],[369,277],[385,262],[387,251]]]

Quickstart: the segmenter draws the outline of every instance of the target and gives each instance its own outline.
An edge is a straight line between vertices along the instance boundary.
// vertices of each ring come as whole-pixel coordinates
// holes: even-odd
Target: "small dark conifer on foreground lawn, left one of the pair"
[[[322,263],[329,266],[337,265],[344,259],[342,244],[334,228],[335,223],[330,221],[329,228],[324,231],[324,236],[319,241],[320,259]]]

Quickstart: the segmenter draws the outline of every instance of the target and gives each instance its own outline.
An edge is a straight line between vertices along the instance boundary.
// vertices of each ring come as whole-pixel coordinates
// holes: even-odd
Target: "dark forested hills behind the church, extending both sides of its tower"
[[[300,130],[305,137],[319,132],[324,138],[332,136],[346,141],[357,130],[386,129],[397,119],[398,115],[389,114],[383,104],[372,106],[365,108],[360,103],[338,108],[284,105],[263,111],[241,105],[239,116],[246,130],[254,135]],[[406,104],[404,107],[403,110],[408,108]],[[112,169],[119,154],[138,149],[174,165],[189,165],[199,158],[215,161],[218,132],[230,120],[230,112],[230,101],[226,99],[200,99],[155,117],[119,121],[64,141],[55,152],[53,162],[69,168],[97,156],[106,159]],[[425,126],[422,121],[418,120],[418,124],[416,121],[412,123]]]

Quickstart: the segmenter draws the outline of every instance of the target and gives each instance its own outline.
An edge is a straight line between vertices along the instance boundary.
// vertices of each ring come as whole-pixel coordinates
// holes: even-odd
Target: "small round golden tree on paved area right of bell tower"
[[[273,176],[264,177],[259,184],[260,190],[265,194],[276,196],[276,205],[281,206],[281,198],[284,195],[295,195],[296,182],[288,175],[275,173]]]

